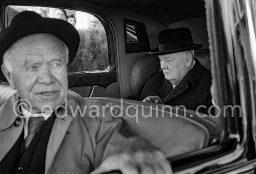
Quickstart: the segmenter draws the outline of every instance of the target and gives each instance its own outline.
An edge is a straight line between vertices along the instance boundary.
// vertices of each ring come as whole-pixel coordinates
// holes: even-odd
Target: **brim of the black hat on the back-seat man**
[[[159,51],[159,47],[155,48],[151,51],[149,51],[149,54],[151,55],[162,55],[162,54],[171,54],[171,53],[177,53],[182,51],[188,51],[188,50],[195,50],[202,48],[202,44],[194,44],[190,47],[182,47],[182,48],[175,48],[167,51]]]

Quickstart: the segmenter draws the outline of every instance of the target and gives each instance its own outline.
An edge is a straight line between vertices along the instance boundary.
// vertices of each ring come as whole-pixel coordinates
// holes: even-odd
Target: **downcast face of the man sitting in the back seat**
[[[158,57],[165,79],[169,80],[172,84],[176,85],[187,74],[186,53],[163,54]]]

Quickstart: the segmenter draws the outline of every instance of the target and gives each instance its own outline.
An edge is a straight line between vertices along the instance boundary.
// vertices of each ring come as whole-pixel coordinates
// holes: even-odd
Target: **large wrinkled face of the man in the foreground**
[[[51,34],[40,33],[21,38],[9,49],[12,71],[7,80],[21,99],[31,103],[32,112],[39,113],[46,105],[52,109],[62,105],[68,89],[64,43]]]

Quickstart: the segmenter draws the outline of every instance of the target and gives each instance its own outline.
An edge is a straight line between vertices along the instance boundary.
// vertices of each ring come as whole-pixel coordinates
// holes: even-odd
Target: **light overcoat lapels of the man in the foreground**
[[[17,114],[15,113],[19,113],[17,112],[17,108],[20,104],[19,100],[19,94],[13,94],[0,107],[0,137],[2,140],[4,140],[4,142],[0,141],[0,147],[3,147],[0,152],[0,161],[13,147],[23,130],[24,119],[22,118],[20,126],[16,129],[12,128],[13,123],[18,118]],[[63,113],[65,113],[65,110],[61,107],[61,109],[58,111],[58,115],[63,115]],[[20,116],[20,114],[18,115]],[[70,114],[66,114],[63,117],[57,116],[54,121],[47,145],[45,174],[49,172],[52,162],[54,161],[54,157],[58,152],[65,135],[67,133],[71,133],[74,128],[72,119],[73,117]]]

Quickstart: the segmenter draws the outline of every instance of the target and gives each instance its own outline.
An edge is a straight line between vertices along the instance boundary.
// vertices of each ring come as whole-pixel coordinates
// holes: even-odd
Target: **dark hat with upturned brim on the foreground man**
[[[17,40],[36,33],[48,33],[61,39],[69,50],[69,63],[74,60],[80,43],[77,30],[65,20],[43,18],[33,11],[17,14],[9,27],[0,33],[0,65],[3,54]],[[0,80],[7,81],[0,68]]]

